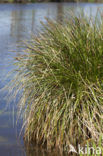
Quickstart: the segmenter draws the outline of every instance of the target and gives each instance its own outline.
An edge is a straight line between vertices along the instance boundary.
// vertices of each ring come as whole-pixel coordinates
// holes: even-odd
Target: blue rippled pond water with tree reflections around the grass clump
[[[76,14],[83,8],[85,14],[96,15],[97,9],[103,9],[103,4],[92,3],[35,3],[35,4],[0,4],[0,89],[12,78],[7,78],[13,66],[13,57],[19,51],[18,44],[30,39],[32,34],[42,28],[40,21],[46,23],[45,17],[58,20],[60,14],[73,10]],[[0,92],[0,156],[42,156],[48,155],[38,148],[24,148],[23,138],[19,137],[21,121],[16,124],[15,102],[6,111],[6,91]],[[50,155],[50,154],[49,154]],[[53,154],[52,155],[56,155]]]

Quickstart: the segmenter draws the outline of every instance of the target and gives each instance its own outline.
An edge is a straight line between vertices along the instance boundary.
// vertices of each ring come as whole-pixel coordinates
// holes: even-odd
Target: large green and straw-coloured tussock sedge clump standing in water
[[[99,22],[99,21],[98,21]],[[17,60],[15,95],[25,140],[48,149],[77,148],[103,134],[103,22],[84,16],[47,20]]]

